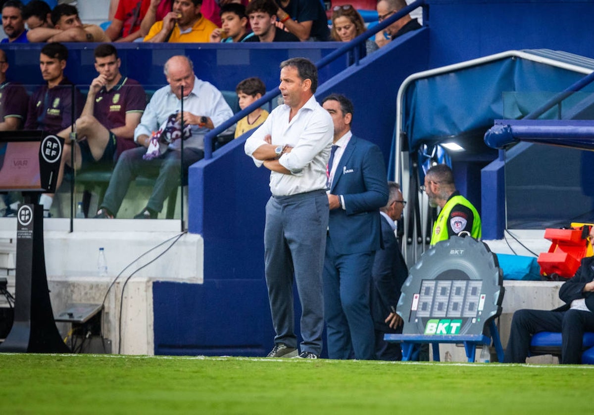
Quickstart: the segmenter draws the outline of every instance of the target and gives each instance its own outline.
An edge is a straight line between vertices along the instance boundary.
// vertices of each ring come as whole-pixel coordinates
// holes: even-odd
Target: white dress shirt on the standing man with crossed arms
[[[292,174],[270,172],[270,191],[274,196],[288,196],[312,190],[326,189],[326,165],[334,135],[334,123],[328,111],[315,97],[309,98],[289,122],[290,107],[286,104],[274,108],[266,121],[245,142],[245,154],[260,167],[263,161],[252,154],[266,144],[270,135],[273,145],[290,145],[290,153],[283,154],[279,162]],[[336,156],[335,156],[336,157]]]

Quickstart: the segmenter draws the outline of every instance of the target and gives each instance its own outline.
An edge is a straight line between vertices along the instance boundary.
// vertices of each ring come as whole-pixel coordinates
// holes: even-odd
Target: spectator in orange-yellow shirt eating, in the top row
[[[173,11],[153,24],[144,41],[208,42],[217,26],[200,13],[201,5],[202,0],[173,1]]]

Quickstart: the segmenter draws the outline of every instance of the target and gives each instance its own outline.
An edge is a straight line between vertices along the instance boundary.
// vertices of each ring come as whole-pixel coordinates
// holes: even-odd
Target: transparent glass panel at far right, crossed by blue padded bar
[[[504,94],[505,115],[521,118],[554,95]],[[585,92],[574,93],[539,118],[593,119],[593,98]],[[558,228],[571,222],[591,222],[592,166],[591,151],[534,143],[519,143],[505,151],[507,228]]]

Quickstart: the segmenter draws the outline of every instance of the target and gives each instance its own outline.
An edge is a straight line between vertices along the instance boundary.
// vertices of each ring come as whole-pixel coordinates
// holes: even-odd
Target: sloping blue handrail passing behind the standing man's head
[[[394,13],[389,18],[384,20],[381,23],[378,23],[374,27],[369,30],[366,30],[364,33],[360,34],[359,36],[355,37],[355,39],[347,42],[344,46],[339,47],[338,49],[334,50],[334,52],[329,53],[324,58],[318,60],[315,63],[315,67],[319,70],[320,68],[324,68],[324,66],[328,65],[329,63],[333,62],[340,56],[344,55],[347,52],[353,52],[355,55],[355,62],[354,65],[359,65],[359,45],[365,43],[369,37],[374,36],[374,34],[378,33],[380,30],[384,30],[386,27],[391,25],[392,23],[396,22],[402,17],[405,17],[411,11],[418,7],[426,7],[425,0],[417,0],[407,7],[401,9],[399,12]],[[426,16],[426,14],[425,14]],[[426,20],[424,20],[425,22]],[[424,23],[425,24],[425,23]],[[255,101],[254,103],[250,104],[248,107],[245,107],[243,110],[239,111],[237,114],[233,115],[230,119],[223,122],[221,125],[215,127],[214,129],[210,130],[204,136],[204,159],[210,159],[213,157],[213,140],[216,138],[217,135],[228,129],[230,126],[241,120],[243,117],[247,116],[249,113],[254,111],[256,108],[263,106],[264,104],[268,103],[269,101],[276,98],[280,95],[279,90],[272,90],[266,92],[266,94],[260,98],[259,100]]]

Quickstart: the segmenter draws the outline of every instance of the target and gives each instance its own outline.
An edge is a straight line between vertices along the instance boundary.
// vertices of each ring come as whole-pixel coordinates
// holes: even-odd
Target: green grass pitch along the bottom
[[[587,414],[594,366],[0,354],[0,414]]]

